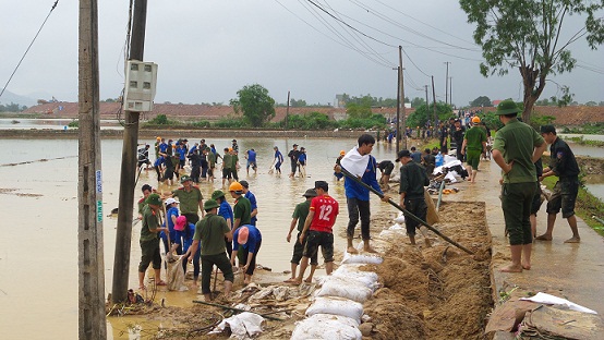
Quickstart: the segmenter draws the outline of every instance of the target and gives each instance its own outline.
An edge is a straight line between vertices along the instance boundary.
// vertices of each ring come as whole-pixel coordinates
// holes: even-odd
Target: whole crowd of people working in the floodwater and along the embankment
[[[580,242],[575,217],[575,201],[579,181],[579,168],[568,145],[556,135],[552,125],[541,127],[537,133],[517,118],[518,107],[511,100],[499,104],[496,114],[504,127],[497,131],[493,143],[493,159],[502,168],[502,208],[509,235],[511,264],[502,268],[507,272],[521,272],[531,268],[530,252],[534,240],[551,241],[557,212],[568,220],[572,236],[566,242]],[[470,119],[471,126],[466,129],[461,121],[451,118],[445,126],[440,123],[439,147],[425,148],[423,151],[411,147],[396,155],[395,162],[400,162],[399,205],[409,212],[426,219],[427,205],[424,198],[424,186],[428,185],[430,174],[442,162],[444,153],[449,146],[455,156],[467,162],[469,182],[475,183],[481,155],[484,158],[491,133],[478,116]],[[225,278],[224,293],[228,296],[239,270],[244,276],[244,283],[253,280],[257,254],[262,246],[262,231],[257,226],[258,205],[250,185],[239,180],[239,146],[232,139],[230,147],[218,154],[214,144],[206,145],[205,139],[189,148],[189,141],[172,139],[165,142],[158,137],[155,145],[156,161],[153,167],[159,183],[171,184],[179,181],[181,186],[169,195],[160,196],[148,184],[143,185],[143,198],[138,202],[138,218],[143,221],[141,231],[142,258],[138,267],[140,289],[145,287],[145,272],[153,264],[156,278],[160,277],[160,243],[166,253],[176,252],[182,255],[183,270],[188,264],[193,265],[193,284],[197,284],[201,275],[201,290],[207,300],[212,300],[209,282],[214,266]],[[353,245],[354,233],[360,223],[362,250],[374,253],[371,246],[371,207],[370,191],[378,193],[382,201],[388,202],[390,175],[395,169],[392,160],[377,161],[372,150],[376,139],[373,135],[363,134],[351,150],[341,150],[334,167],[336,180],[343,179],[346,206],[348,211],[347,252],[358,253]],[[551,145],[551,162],[543,169],[541,155]],[[290,159],[289,177],[297,172],[305,177],[307,157],[304,147],[293,144],[287,157]],[[149,146],[140,149],[140,166],[150,166]],[[257,171],[256,151],[252,148],[244,153],[246,172]],[[204,197],[196,186],[200,181],[214,181],[218,159],[221,159],[220,174],[224,187],[216,190],[212,197]],[[180,174],[189,162],[190,174]],[[285,157],[277,146],[274,147],[274,159],[270,171],[281,173]],[[442,163],[440,163],[442,165]],[[377,170],[382,175],[377,179]],[[559,177],[554,195],[547,204],[547,230],[536,235],[536,212],[541,206],[539,182],[549,175]],[[227,196],[233,199],[229,204]],[[313,187],[302,195],[303,201],[292,212],[287,232],[287,242],[293,242],[291,257],[291,277],[288,283],[311,282],[318,266],[318,248],[322,250],[326,272],[333,270],[334,234],[333,227],[339,215],[339,205],[329,196],[329,184],[325,180],[315,181]],[[177,201],[178,198],[178,201]],[[161,216],[164,215],[164,218]],[[411,244],[415,244],[416,230],[424,234],[426,245],[430,241],[425,227],[414,219],[406,219],[407,234]],[[293,231],[297,230],[297,234]],[[160,241],[161,240],[161,241]],[[310,274],[305,271],[310,265]],[[233,269],[234,268],[234,269]],[[166,284],[161,280],[157,284]]]

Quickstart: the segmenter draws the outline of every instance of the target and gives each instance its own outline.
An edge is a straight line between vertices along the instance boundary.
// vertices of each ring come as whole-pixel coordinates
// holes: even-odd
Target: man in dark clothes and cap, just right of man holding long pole
[[[424,186],[430,185],[427,172],[424,167],[413,161],[409,150],[400,150],[397,155],[397,161],[400,161],[402,165],[400,167],[399,186],[400,206],[419,217],[422,221],[425,221],[427,205],[424,198]],[[410,218],[404,219],[404,227],[412,245],[415,245],[415,229],[420,229],[424,235],[425,245],[428,247],[432,245],[427,239],[427,230],[425,227],[420,227],[419,222]]]

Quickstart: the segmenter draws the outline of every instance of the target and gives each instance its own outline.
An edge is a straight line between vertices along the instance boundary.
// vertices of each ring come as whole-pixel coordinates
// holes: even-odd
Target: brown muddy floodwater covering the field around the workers
[[[179,137],[179,136],[172,136]],[[198,136],[190,141],[197,139]],[[207,141],[218,148],[230,145],[230,138]],[[141,141],[141,143],[154,141]],[[273,146],[277,145],[287,157],[293,143],[309,151],[306,178],[289,179],[286,159],[283,175],[268,174],[273,160]],[[348,214],[342,183],[333,177],[333,166],[341,149],[348,150],[354,139],[239,139],[240,150],[258,151],[257,174],[245,174],[245,160],[241,163],[240,179],[250,182],[258,199],[258,227],[263,231],[263,247],[258,263],[274,271],[290,267],[292,244],[286,242],[295,204],[303,201],[302,193],[315,180],[327,180],[330,194],[340,202],[340,217],[335,226],[338,235],[346,229]],[[110,292],[116,240],[114,217],[107,216],[118,206],[119,171],[122,141],[102,141],[102,189],[105,231],[105,281]],[[7,339],[75,339],[77,337],[77,141],[74,139],[2,139],[0,156],[0,206],[2,206],[3,235],[0,238],[0,330]],[[374,155],[378,160],[392,159],[389,145],[377,145]],[[153,156],[152,156],[153,157]],[[144,183],[156,186],[154,172],[143,171],[135,197]],[[201,183],[204,196],[220,189]],[[160,186],[168,191],[170,187]],[[374,214],[392,214],[387,205],[372,198]],[[388,211],[388,212],[385,212]],[[141,224],[133,228],[130,287],[137,287],[136,266],[140,259],[138,234]],[[336,247],[343,248],[343,240],[336,238]],[[191,304],[194,292],[171,293],[171,304]],[[123,323],[112,319],[114,329]],[[36,327],[32,327],[36,325]],[[110,336],[120,338],[120,331]],[[122,335],[123,337],[123,335]]]

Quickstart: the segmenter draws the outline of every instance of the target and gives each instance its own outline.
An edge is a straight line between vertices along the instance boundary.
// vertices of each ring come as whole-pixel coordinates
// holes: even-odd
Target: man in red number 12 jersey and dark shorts
[[[325,271],[330,275],[334,270],[334,224],[340,210],[338,202],[330,197],[327,192],[329,184],[325,181],[315,182],[316,197],[311,201],[309,216],[304,221],[304,228],[298,239],[304,244],[302,253],[302,263],[300,264],[300,272],[293,283],[302,283],[304,271],[309,267],[309,258],[316,256],[318,247],[323,253],[325,262]],[[307,233],[307,236],[306,236]],[[305,282],[312,282],[312,275],[306,278]]]

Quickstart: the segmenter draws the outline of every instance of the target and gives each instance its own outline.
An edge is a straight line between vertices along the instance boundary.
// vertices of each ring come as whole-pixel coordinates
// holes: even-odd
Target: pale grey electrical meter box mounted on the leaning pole
[[[123,109],[134,112],[152,111],[156,85],[156,63],[129,60],[125,73]]]

